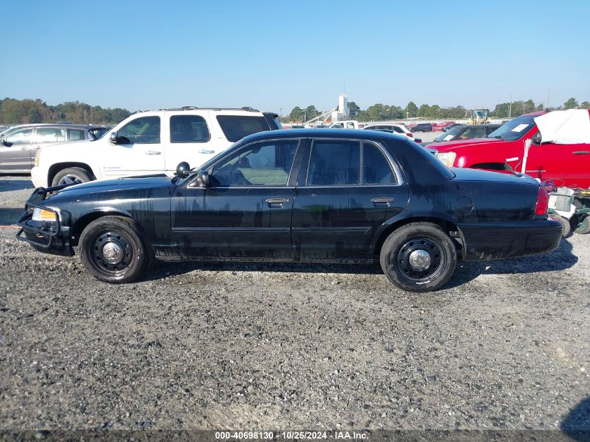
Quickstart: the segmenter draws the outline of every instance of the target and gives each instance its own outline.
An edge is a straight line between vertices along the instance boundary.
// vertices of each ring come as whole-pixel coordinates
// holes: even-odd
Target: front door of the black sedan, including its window
[[[298,140],[251,143],[216,163],[208,187],[172,197],[172,235],[182,256],[293,258],[292,174]]]

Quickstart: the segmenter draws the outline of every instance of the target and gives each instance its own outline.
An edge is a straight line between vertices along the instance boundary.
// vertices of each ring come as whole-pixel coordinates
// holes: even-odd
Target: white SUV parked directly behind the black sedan
[[[132,175],[173,176],[182,161],[198,166],[246,135],[281,128],[277,117],[252,108],[140,112],[98,140],[39,149],[31,180],[36,187],[48,187]]]

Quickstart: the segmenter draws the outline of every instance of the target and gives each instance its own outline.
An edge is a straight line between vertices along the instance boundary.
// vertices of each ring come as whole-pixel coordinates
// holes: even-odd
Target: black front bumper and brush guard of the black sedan
[[[64,189],[66,186],[35,189],[24,206],[24,213],[17,221],[17,225],[20,227],[16,234],[17,240],[28,242],[34,249],[43,253],[73,256],[68,214],[66,212],[58,213],[51,207],[39,205],[39,202],[45,200],[47,193]],[[36,207],[53,212],[57,221],[33,221],[31,218]]]

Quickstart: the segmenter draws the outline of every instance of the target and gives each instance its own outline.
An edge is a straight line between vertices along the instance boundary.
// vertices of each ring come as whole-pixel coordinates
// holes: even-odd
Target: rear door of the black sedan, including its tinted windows
[[[293,246],[301,260],[361,259],[378,228],[401,212],[408,187],[380,145],[314,140],[293,206]]]

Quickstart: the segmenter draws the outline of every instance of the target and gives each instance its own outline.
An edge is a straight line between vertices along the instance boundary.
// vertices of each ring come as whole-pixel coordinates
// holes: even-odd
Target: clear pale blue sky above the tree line
[[[0,96],[147,110],[590,101],[590,1],[6,1]]]

